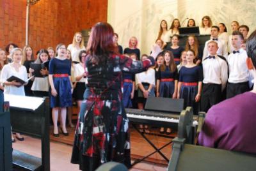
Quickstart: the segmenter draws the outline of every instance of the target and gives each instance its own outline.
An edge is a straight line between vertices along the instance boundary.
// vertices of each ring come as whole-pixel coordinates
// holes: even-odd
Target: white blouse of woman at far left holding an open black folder
[[[5,82],[8,78],[15,76],[24,81],[28,79],[27,70],[25,66],[20,66],[19,71],[16,71],[11,64],[6,64],[1,72],[1,82]],[[13,94],[25,96],[24,85],[16,87],[13,85],[4,85],[4,94]]]

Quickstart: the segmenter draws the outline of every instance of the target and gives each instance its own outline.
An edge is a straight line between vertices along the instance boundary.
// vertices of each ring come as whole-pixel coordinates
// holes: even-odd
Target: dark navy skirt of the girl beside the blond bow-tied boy
[[[180,98],[184,99],[184,108],[193,107],[194,115],[198,115],[199,103],[196,103],[195,98],[198,93],[198,85],[182,85],[180,90]]]

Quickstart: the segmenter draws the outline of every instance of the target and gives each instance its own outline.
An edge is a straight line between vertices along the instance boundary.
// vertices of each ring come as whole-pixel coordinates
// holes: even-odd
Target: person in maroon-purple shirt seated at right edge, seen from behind
[[[256,30],[246,42],[248,69],[256,78]],[[198,144],[256,154],[256,86],[209,109]]]

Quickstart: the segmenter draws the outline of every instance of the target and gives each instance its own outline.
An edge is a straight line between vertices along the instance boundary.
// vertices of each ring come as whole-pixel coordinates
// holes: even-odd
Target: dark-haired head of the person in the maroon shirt
[[[253,66],[256,68],[256,30],[246,40],[246,51],[248,57],[252,59]]]

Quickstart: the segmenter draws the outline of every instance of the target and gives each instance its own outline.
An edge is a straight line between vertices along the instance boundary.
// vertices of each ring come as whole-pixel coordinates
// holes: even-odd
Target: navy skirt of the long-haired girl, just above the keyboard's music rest
[[[174,87],[174,81],[160,82],[159,96],[162,98],[172,98],[172,94],[174,93]]]

